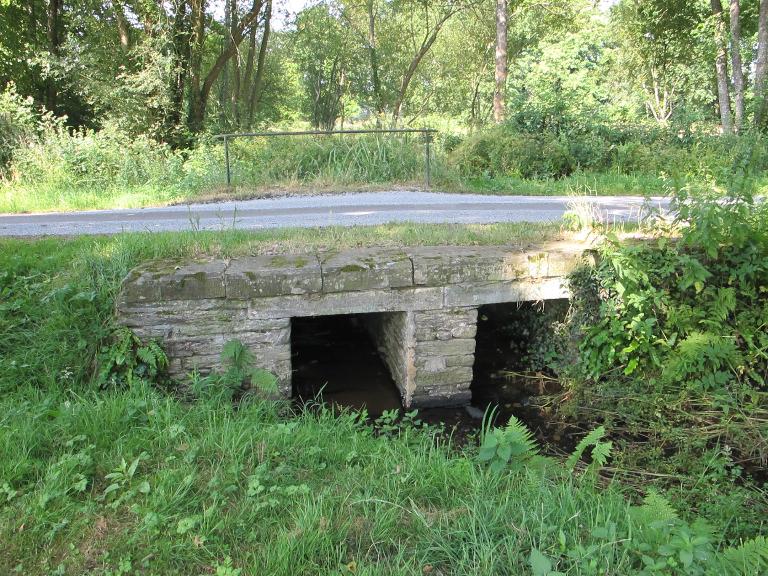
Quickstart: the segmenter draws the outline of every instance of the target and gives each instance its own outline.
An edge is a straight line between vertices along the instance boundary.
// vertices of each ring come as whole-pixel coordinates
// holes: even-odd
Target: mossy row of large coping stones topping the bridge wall
[[[359,248],[339,252],[149,261],[123,283],[121,305],[162,300],[254,300],[276,296],[402,290],[563,277],[583,244]]]

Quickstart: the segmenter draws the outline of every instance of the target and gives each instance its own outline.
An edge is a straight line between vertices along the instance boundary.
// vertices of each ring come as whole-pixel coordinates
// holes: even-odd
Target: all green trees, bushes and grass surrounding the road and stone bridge
[[[233,140],[224,187],[216,134],[388,126],[438,129],[441,189],[677,209],[590,229],[566,319],[530,326],[557,456],[516,418],[459,442],[269,400],[235,341],[174,382],[113,320],[152,258],[556,225],[0,240],[0,573],[768,573],[768,2],[493,4],[0,1],[0,212],[421,185],[419,138],[334,136]]]

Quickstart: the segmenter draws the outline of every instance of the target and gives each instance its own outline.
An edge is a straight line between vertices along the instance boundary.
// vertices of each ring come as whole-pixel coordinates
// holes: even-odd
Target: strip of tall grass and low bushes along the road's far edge
[[[727,190],[745,175],[768,190],[768,155],[749,135],[552,135],[499,127],[440,135],[432,151],[433,189],[457,193],[660,195],[686,184]],[[0,213],[420,188],[425,173],[423,142],[402,136],[236,139],[232,187],[217,140],[173,150],[114,129],[50,128],[11,152],[0,177]]]

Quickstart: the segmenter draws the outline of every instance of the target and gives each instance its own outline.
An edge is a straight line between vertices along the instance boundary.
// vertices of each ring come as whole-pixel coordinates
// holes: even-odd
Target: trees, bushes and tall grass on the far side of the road
[[[436,128],[454,192],[768,189],[758,0],[315,4],[6,0],[0,212],[424,182],[420,138],[348,135],[235,139],[225,187],[213,135],[296,129]]]

